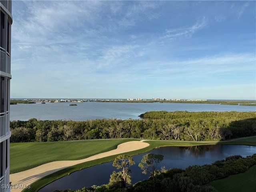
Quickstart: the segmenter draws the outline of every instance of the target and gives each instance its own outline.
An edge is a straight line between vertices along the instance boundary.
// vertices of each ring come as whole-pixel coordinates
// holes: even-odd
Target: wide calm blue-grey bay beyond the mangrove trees
[[[147,111],[256,111],[256,106],[190,104],[190,103],[118,103],[82,102],[77,106],[68,103],[17,104],[10,105],[10,120],[90,120],[96,118],[138,119]]]

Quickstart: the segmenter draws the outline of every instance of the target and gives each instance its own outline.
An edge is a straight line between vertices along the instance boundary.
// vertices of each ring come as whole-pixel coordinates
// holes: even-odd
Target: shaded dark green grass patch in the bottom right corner
[[[210,182],[211,186],[219,192],[255,192],[256,191],[256,165],[248,171],[232,175],[224,179]]]

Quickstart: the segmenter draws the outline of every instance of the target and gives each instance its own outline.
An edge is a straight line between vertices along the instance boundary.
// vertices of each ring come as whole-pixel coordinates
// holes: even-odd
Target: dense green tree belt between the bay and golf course
[[[143,119],[12,121],[11,142],[139,138],[210,141],[256,135],[256,112],[146,112]],[[40,130],[40,131],[38,131]]]

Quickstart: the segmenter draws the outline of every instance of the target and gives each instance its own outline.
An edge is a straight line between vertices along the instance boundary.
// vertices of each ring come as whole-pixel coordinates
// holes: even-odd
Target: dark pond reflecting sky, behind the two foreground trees
[[[185,169],[191,165],[211,164],[216,160],[225,159],[232,155],[242,155],[243,157],[256,153],[255,146],[244,145],[205,145],[192,147],[162,147],[151,151],[151,153],[164,155],[164,160],[158,166],[165,166],[166,169],[182,168]],[[132,183],[148,178],[148,175],[142,174],[142,170],[138,167],[142,156],[139,154],[133,156],[135,165],[131,166]],[[54,190],[65,190],[71,188],[73,190],[84,186],[102,185],[109,182],[110,174],[116,170],[112,166],[112,162],[100,164],[84,170],[80,170],[65,176],[45,186],[39,192],[52,192]],[[116,170],[117,171],[117,170]]]

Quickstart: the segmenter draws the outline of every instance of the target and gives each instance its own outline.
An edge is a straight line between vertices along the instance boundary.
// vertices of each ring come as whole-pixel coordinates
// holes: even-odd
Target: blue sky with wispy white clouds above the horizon
[[[256,99],[255,1],[12,2],[11,98]]]

